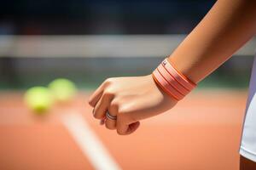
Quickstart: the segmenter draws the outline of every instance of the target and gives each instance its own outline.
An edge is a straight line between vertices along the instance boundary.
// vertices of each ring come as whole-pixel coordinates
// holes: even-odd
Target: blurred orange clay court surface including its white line
[[[80,92],[70,104],[55,105],[48,116],[35,116],[21,92],[1,92],[0,169],[239,167],[246,91],[195,91],[128,136],[96,122],[89,94]]]

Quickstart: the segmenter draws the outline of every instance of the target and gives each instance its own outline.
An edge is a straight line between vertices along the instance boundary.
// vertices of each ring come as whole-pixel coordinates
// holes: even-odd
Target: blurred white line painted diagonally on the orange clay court
[[[84,155],[88,157],[93,167],[99,170],[118,170],[121,169],[108,150],[104,147],[101,140],[93,133],[84,117],[76,114],[63,114],[61,121],[79,144]]]

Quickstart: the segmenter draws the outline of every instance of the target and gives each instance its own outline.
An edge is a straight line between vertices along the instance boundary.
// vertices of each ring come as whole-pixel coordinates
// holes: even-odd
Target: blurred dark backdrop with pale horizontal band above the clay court
[[[0,88],[24,89],[67,77],[95,88],[106,77],[149,74],[215,1],[3,1]],[[251,41],[200,84],[247,88]]]

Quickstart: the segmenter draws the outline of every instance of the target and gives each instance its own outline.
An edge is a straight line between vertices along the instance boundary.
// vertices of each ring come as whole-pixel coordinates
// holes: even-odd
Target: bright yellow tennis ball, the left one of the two
[[[25,102],[32,111],[42,114],[49,110],[53,104],[53,98],[48,88],[34,87],[26,91]]]

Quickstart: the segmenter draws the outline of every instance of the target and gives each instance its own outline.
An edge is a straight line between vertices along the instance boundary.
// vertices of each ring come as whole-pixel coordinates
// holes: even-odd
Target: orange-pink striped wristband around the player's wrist
[[[152,76],[160,88],[166,94],[180,100],[196,87],[194,82],[177,71],[167,59],[164,59],[161,64],[153,71]]]

